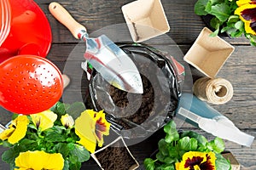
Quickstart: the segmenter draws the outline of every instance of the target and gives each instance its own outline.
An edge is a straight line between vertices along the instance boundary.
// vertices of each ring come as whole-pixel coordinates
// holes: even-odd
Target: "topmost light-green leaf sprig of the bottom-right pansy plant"
[[[179,139],[179,134],[177,133],[176,124],[174,121],[170,121],[164,127],[166,132],[166,142],[171,143],[172,141],[177,141]]]

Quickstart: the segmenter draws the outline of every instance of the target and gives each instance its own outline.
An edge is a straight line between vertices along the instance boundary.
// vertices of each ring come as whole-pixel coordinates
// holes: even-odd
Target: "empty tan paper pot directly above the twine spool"
[[[218,36],[211,37],[211,33],[207,27],[203,28],[183,59],[207,77],[214,78],[235,48]]]

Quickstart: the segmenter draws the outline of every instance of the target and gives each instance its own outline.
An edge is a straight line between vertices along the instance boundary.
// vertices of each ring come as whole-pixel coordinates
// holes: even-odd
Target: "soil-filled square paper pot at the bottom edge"
[[[134,156],[131,155],[131,151],[128,149],[127,145],[125,144],[125,140],[121,136],[119,136],[117,139],[114,139],[113,142],[111,142],[110,144],[108,144],[108,145],[102,147],[100,150],[96,150],[96,152],[90,154],[90,156],[96,161],[96,163],[98,164],[99,167],[101,167],[102,170],[106,166],[108,166],[108,169],[112,169],[112,170],[120,168],[120,167],[110,166],[109,165],[109,161],[112,161],[113,163],[115,163],[117,165],[120,165],[120,164],[124,165],[125,164],[125,162],[117,161],[117,160],[120,160],[120,159],[116,158],[116,157],[119,157],[119,156],[115,156],[113,150],[112,150],[111,153],[109,153],[109,151],[111,150],[111,149],[109,149],[109,147],[112,147],[112,148],[119,148],[119,147],[121,147],[122,149],[124,149],[123,151],[118,151],[118,152],[119,153],[124,153],[133,162],[132,164],[130,163],[129,167],[125,167],[125,169],[135,170],[135,169],[137,169],[137,167],[139,167],[139,164],[138,164],[137,160],[134,158]],[[105,153],[102,153],[102,152],[105,152]],[[99,160],[99,158],[102,157],[101,154],[105,155],[104,162]],[[109,156],[109,154],[112,154],[115,158],[113,158],[113,156]],[[123,158],[124,157],[126,157],[126,156],[123,156]],[[113,160],[110,160],[112,158],[113,158]],[[106,161],[106,160],[108,160],[108,161]],[[126,161],[126,160],[124,159],[123,161]],[[106,165],[103,165],[104,163],[106,163]]]

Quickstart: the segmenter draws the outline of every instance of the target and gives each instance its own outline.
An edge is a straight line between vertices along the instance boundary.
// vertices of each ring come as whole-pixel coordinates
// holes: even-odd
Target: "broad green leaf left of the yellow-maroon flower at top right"
[[[230,13],[230,6],[226,3],[219,3],[212,6],[211,14],[222,22],[229,19]]]

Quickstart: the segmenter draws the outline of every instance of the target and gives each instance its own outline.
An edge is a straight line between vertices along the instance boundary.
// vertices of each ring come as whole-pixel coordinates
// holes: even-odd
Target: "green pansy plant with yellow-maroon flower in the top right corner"
[[[230,37],[247,37],[256,45],[256,3],[253,0],[198,0],[195,14],[207,18],[213,29],[211,36],[226,33]]]

